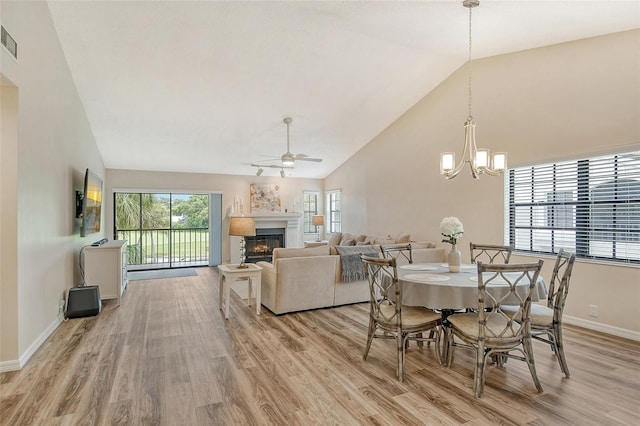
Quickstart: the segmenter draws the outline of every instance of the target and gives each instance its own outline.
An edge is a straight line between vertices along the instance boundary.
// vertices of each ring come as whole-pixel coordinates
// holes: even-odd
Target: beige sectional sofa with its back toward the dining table
[[[412,243],[412,247],[414,263],[444,261],[444,248],[431,243]],[[369,300],[367,280],[342,282],[340,256],[330,245],[277,248],[272,262],[258,265],[262,305],[276,315]]]

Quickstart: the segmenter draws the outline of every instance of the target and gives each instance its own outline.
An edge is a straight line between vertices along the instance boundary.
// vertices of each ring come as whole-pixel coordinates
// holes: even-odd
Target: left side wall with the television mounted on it
[[[22,365],[59,324],[59,301],[79,283],[80,248],[102,236],[80,238],[75,190],[82,189],[85,168],[104,176],[104,165],[47,3],[3,1],[0,12],[2,25],[18,44],[18,61],[0,48],[0,73],[18,95],[17,203],[5,198],[5,184],[12,183],[5,182],[4,164],[2,180],[0,306],[5,294],[17,294],[15,310],[8,312],[11,318],[4,309],[2,313],[3,324],[12,327],[6,334],[0,329],[3,370]],[[4,89],[2,93],[4,99]],[[3,141],[3,154],[4,147]],[[17,242],[5,240],[5,214],[17,216]],[[5,271],[4,254],[10,251],[17,253],[17,264]],[[15,279],[5,281],[7,274]],[[17,340],[12,337],[16,330]]]

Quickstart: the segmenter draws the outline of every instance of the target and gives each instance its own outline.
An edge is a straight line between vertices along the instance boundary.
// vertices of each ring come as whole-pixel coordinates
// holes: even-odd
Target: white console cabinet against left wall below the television
[[[117,299],[119,305],[127,288],[127,241],[85,247],[84,282],[99,286],[101,299]]]

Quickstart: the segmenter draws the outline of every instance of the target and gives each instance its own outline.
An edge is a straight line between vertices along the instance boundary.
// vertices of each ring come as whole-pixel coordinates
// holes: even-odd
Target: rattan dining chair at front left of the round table
[[[419,306],[405,306],[402,286],[398,281],[396,259],[382,259],[360,255],[369,280],[369,331],[363,359],[367,359],[374,338],[394,339],[397,350],[397,375],[405,377],[405,354],[410,340],[435,342],[436,356],[441,362],[440,335],[442,316]],[[433,336],[422,337],[423,332],[434,331]]]

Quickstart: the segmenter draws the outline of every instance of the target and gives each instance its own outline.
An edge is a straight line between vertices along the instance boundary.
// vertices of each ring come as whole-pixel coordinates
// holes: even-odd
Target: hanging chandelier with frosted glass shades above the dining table
[[[471,115],[471,10],[480,5],[479,0],[464,0],[462,5],[469,9],[469,59],[467,67],[469,69],[469,114],[464,123],[464,149],[462,158],[456,165],[456,156],[453,152],[443,152],[440,154],[440,174],[447,179],[453,179],[460,173],[465,164],[471,168],[471,176],[478,179],[482,174],[491,176],[501,175],[507,168],[507,153],[496,152],[490,161],[488,149],[478,149],[476,147],[476,122]]]

